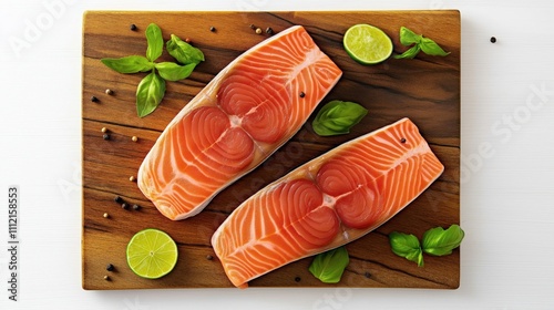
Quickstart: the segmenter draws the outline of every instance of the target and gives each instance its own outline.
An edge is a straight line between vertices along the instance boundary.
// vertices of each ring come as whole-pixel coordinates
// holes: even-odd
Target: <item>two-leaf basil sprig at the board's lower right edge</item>
[[[463,240],[464,231],[459,225],[451,225],[448,229],[435,227],[427,230],[420,245],[418,237],[403,232],[389,234],[392,252],[423,267],[423,252],[432,256],[452,254]]]

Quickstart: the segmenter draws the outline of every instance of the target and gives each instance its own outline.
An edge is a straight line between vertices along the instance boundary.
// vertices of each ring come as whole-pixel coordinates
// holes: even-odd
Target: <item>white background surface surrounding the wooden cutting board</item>
[[[6,0],[0,8],[0,309],[554,309],[554,2]],[[85,10],[389,9],[461,11],[460,289],[81,288]],[[32,24],[40,34],[25,38]],[[7,290],[10,185],[21,195],[18,302]]]

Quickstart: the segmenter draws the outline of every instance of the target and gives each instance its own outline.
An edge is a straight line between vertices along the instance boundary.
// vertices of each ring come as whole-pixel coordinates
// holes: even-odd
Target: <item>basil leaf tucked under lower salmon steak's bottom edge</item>
[[[324,283],[337,283],[349,262],[347,249],[339,247],[317,255],[308,270]]]

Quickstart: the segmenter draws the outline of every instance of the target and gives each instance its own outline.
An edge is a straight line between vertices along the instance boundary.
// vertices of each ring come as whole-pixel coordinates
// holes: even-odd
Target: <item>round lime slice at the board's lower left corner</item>
[[[127,245],[127,264],[137,276],[147,279],[161,278],[173,270],[177,262],[177,245],[158,229],[136,232]]]

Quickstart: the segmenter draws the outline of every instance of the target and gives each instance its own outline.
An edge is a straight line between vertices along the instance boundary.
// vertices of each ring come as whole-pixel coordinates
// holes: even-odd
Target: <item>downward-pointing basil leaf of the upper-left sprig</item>
[[[165,80],[155,72],[146,75],[136,87],[136,113],[144,117],[156,110],[165,94]]]

